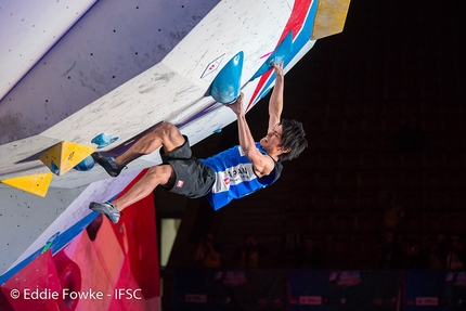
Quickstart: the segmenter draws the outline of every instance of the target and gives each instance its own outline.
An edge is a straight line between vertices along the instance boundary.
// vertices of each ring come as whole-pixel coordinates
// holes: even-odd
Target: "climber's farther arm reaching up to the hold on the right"
[[[285,76],[283,73],[283,62],[275,64],[272,62],[272,66],[275,68],[275,86],[273,87],[272,94],[269,100],[269,129],[270,132],[273,127],[280,122],[283,112],[283,91],[285,88]]]

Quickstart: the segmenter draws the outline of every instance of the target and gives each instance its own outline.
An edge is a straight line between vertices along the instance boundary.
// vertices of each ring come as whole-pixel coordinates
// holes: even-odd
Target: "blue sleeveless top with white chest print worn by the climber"
[[[259,143],[256,143],[256,147],[260,153],[268,155]],[[199,160],[216,172],[216,181],[206,195],[215,210],[225,206],[232,199],[242,198],[272,184],[280,178],[283,168],[280,161],[273,159],[275,168],[270,174],[258,178],[254,171],[253,163],[240,145]]]

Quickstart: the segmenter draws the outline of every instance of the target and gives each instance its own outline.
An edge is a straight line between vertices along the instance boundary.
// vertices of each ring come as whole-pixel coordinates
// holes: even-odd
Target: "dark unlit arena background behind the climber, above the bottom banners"
[[[168,267],[193,265],[206,233],[229,268],[246,233],[267,247],[263,268],[302,268],[306,243],[318,254],[306,268],[383,268],[387,226],[402,259],[413,243],[428,255],[438,238],[462,237],[464,12],[464,1],[352,1],[344,31],[319,40],[285,77],[283,117],[305,124],[309,147],[275,185],[216,212],[155,192],[158,219],[182,218]],[[247,114],[256,139],[267,132],[267,101]],[[236,143],[233,124],[194,153]],[[393,208],[397,222],[387,218]]]

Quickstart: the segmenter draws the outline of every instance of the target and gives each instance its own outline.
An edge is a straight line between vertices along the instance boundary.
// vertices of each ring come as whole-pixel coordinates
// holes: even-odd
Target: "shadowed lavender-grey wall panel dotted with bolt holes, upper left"
[[[98,1],[0,101],[0,144],[47,130],[154,66],[218,2]]]

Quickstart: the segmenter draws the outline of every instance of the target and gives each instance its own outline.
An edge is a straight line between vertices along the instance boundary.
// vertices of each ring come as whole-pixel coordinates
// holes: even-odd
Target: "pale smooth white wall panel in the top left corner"
[[[0,4],[0,100],[96,0],[16,0]]]

